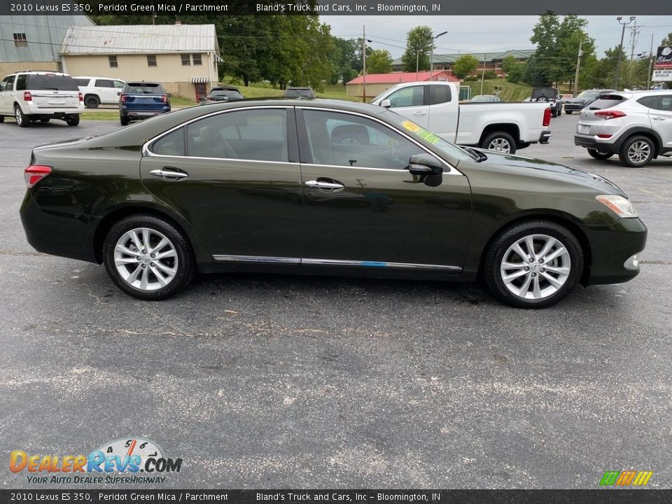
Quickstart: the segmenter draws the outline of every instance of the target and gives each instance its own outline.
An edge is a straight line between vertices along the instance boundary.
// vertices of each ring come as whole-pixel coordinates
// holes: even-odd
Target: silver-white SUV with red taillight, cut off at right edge
[[[606,160],[617,154],[627,167],[672,155],[672,92],[633,91],[603,95],[580,114],[574,144]]]

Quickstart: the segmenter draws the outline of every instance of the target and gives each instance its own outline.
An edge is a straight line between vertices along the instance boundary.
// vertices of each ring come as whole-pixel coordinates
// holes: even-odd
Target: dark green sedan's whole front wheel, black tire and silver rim
[[[561,251],[561,248],[564,251],[550,262],[544,262],[537,255],[532,257],[533,262],[529,262],[529,257],[521,257],[512,249],[514,244],[522,240],[521,251],[526,253],[528,248],[525,243],[526,237],[534,237],[532,243],[535,253],[542,252],[545,244],[552,244],[545,257]],[[507,265],[519,264],[520,267],[502,269],[505,259]],[[550,268],[558,269],[561,273],[547,270],[549,264]],[[567,267],[568,271],[562,269]],[[486,253],[484,278],[493,294],[510,306],[546,308],[567,297],[579,281],[583,267],[581,246],[567,228],[551,221],[527,221],[511,225],[496,237]],[[514,275],[516,272],[524,273],[512,276],[511,281],[505,283],[503,275]],[[557,285],[549,281],[549,277],[555,279]],[[534,297],[535,285],[539,289],[536,293],[538,297]],[[514,290],[518,292],[514,293]]]

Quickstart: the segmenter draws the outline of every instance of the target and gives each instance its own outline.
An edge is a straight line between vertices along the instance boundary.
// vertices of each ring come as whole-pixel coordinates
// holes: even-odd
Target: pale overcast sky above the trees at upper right
[[[629,20],[631,15],[623,15]],[[580,16],[588,20],[587,33],[595,39],[598,57],[616,47],[621,41],[622,27],[616,16]],[[419,25],[427,25],[435,34],[448,31],[437,38],[435,54],[456,52],[500,52],[509,49],[533,49],[530,42],[532,29],[539,18],[530,16],[320,16],[331,26],[331,34],[341,38],[358,38],[366,27],[366,38],[374,41],[373,49],[386,49],[393,58],[401,57],[406,45],[406,34]],[[629,27],[633,26],[632,22]],[[637,16],[638,31],[635,54],[650,50],[651,35],[654,51],[660,41],[672,32],[672,16]],[[630,54],[630,33],[626,27],[623,45]]]

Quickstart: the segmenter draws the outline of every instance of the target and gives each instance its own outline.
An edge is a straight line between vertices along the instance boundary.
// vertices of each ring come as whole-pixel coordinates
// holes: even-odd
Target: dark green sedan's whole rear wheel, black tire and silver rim
[[[127,262],[121,264],[118,269],[115,258],[118,241],[123,241],[123,244],[133,253],[137,251],[135,242],[127,235],[134,230],[139,233],[141,247],[146,245],[143,243],[142,230],[148,230],[147,237],[150,247],[157,246],[158,242],[164,238],[167,239],[167,244],[157,249],[156,253],[174,251],[174,257],[151,258],[149,255],[151,248],[141,248],[137,255],[121,253],[124,256],[120,258],[122,261],[137,258],[137,267],[134,267],[136,262]],[[162,218],[142,214],[128,216],[112,226],[103,243],[103,261],[110,278],[121,290],[146,301],[165,300],[176,295],[188,286],[195,272],[193,252],[182,233]],[[160,263],[161,267],[158,267],[156,263]],[[173,269],[174,275],[163,285],[159,275],[166,281],[169,275],[163,276],[165,268]],[[146,283],[145,288],[142,288],[143,281]],[[140,283],[133,285],[136,282]]]

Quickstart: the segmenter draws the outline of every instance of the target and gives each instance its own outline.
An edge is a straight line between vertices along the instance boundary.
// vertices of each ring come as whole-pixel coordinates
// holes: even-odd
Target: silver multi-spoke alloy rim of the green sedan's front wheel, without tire
[[[500,274],[513,295],[540,300],[562,288],[571,268],[569,251],[559,239],[548,235],[528,235],[507,248]]]

